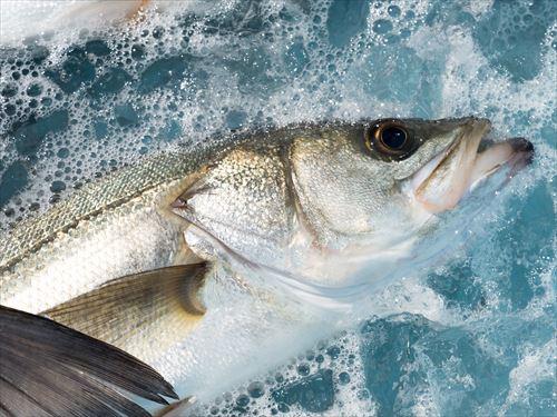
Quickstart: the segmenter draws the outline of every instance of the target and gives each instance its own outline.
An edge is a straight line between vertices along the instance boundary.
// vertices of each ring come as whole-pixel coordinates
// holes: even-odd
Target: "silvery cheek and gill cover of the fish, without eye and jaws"
[[[235,147],[183,196],[188,247],[222,258],[208,234],[260,266],[320,285],[344,285],[370,257],[408,255],[397,245],[414,240],[432,214],[403,182],[486,121],[404,120],[414,145],[403,159],[365,145],[377,123],[293,129],[287,141]]]

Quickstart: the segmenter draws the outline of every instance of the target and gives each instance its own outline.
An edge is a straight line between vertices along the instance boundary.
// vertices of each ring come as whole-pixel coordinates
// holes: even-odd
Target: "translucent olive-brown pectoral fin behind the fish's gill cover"
[[[143,360],[182,339],[205,312],[197,295],[207,264],[180,265],[118,278],[43,314]]]

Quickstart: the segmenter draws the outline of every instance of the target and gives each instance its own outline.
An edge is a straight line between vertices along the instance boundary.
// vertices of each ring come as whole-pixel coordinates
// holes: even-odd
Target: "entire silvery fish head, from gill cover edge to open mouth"
[[[446,250],[443,239],[423,248],[443,230],[442,214],[501,168],[528,163],[528,141],[482,142],[489,128],[477,118],[381,119],[254,137],[182,197],[186,242],[320,302],[359,297],[360,285],[384,285]]]

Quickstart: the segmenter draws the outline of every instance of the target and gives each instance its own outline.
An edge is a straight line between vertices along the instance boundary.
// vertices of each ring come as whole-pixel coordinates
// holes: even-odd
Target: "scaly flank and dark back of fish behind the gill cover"
[[[40,312],[110,279],[183,261],[187,225],[169,211],[172,201],[231,147],[277,145],[292,130],[147,158],[23,221],[0,238],[0,305]]]

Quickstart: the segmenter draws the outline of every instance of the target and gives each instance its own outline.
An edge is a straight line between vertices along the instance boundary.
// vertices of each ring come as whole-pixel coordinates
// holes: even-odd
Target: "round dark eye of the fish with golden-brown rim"
[[[411,135],[395,120],[379,121],[371,126],[365,135],[365,145],[371,151],[389,159],[404,159],[414,146]]]

